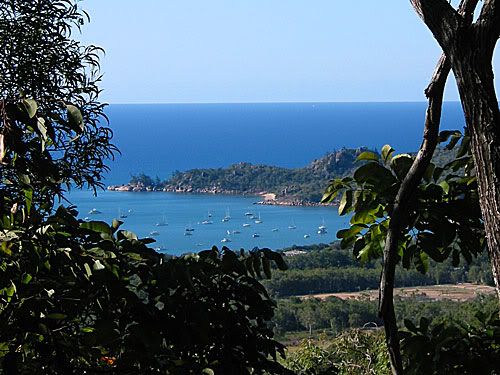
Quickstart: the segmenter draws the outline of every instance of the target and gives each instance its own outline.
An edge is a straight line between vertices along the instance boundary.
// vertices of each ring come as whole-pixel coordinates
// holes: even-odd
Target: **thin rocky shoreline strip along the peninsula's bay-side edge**
[[[309,202],[300,199],[280,199],[276,196],[275,193],[268,193],[265,191],[260,192],[241,192],[236,190],[222,190],[217,188],[212,189],[181,189],[181,188],[156,188],[152,186],[139,186],[139,185],[109,185],[106,187],[108,191],[117,191],[117,192],[158,192],[158,193],[176,193],[176,194],[211,194],[211,195],[240,195],[240,196],[260,196],[263,198],[261,201],[254,202],[256,205],[264,205],[264,206],[296,206],[296,207],[334,207],[335,204],[324,204],[320,202]]]

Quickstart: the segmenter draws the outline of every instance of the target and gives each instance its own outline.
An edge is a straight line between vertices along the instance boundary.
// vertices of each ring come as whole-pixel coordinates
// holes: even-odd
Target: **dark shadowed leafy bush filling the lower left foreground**
[[[282,370],[273,358],[283,347],[269,323],[275,305],[251,276],[268,275],[271,263],[286,268],[279,254],[213,248],[167,259],[118,221],[75,216],[60,207],[37,228],[3,228],[0,364],[7,373]]]

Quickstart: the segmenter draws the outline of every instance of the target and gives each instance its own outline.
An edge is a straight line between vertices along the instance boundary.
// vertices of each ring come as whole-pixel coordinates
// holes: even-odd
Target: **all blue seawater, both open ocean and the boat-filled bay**
[[[397,152],[411,152],[420,145],[425,109],[425,103],[110,105],[107,114],[121,155],[108,163],[105,183],[126,183],[137,173],[163,179],[176,170],[242,161],[303,167],[342,147],[380,149],[388,143]],[[445,103],[442,129],[463,126],[460,104]],[[151,246],[170,254],[212,245],[280,249],[328,243],[348,224],[335,207],[255,205],[259,197],[109,191],[93,197],[73,191],[69,199],[81,218],[109,222],[127,216],[123,228],[155,238]],[[93,208],[101,213],[89,214]],[[231,219],[223,222],[228,213]],[[157,226],[163,222],[168,225]],[[318,234],[322,225],[327,233]],[[185,235],[186,229],[194,230]]]

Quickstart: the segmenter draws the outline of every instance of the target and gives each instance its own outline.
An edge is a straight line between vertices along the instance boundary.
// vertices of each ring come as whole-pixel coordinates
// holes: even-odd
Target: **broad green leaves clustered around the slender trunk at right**
[[[477,182],[469,137],[459,132],[441,132],[441,141],[459,140],[456,158],[444,166],[431,163],[409,202],[409,214],[403,225],[399,255],[405,268],[412,264],[426,272],[429,258],[442,262],[449,256],[457,266],[460,255],[468,262],[485,247],[484,227],[478,203]],[[337,233],[343,248],[354,246],[358,259],[367,262],[382,255],[396,194],[414,157],[394,155],[386,145],[381,155],[364,152],[353,177],[330,182],[322,201],[342,198],[339,214],[351,214],[350,227]]]

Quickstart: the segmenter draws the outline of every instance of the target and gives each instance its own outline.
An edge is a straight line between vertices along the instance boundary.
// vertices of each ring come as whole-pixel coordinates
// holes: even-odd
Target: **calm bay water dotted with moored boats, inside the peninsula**
[[[88,191],[74,191],[69,199],[78,206],[80,218],[111,222],[120,214],[126,215],[120,219],[124,221],[123,229],[131,230],[139,237],[155,238],[157,242],[152,247],[174,255],[213,245],[250,250],[256,246],[280,249],[294,244],[329,243],[348,220],[339,217],[335,207],[255,205],[259,197],[106,191],[94,198]],[[93,208],[101,213],[89,214]],[[231,219],[223,222],[228,213]],[[253,213],[255,218],[250,219],[246,213]],[[256,224],[259,215],[262,223]],[[205,220],[212,224],[202,224]],[[168,225],[156,225],[163,221]],[[243,224],[250,226],[244,227]],[[321,225],[328,228],[326,234],[317,233]],[[289,228],[293,226],[296,229]],[[186,228],[194,229],[190,232],[192,235],[185,235]],[[259,237],[254,237],[254,234]],[[304,238],[305,235],[310,237]],[[224,238],[231,242],[222,243]]]

